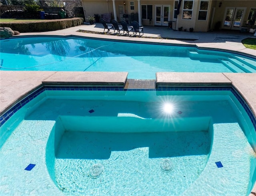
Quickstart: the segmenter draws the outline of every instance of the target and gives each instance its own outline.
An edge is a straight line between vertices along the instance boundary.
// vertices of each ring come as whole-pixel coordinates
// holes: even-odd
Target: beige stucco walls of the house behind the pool
[[[207,1],[207,0],[206,0]],[[135,14],[138,13],[138,0],[127,1],[127,0],[82,0],[85,14],[86,16],[93,16],[94,14],[111,14],[112,19],[114,19],[114,7],[116,11],[116,19],[118,22],[121,20],[125,20],[122,18],[122,15],[119,14],[119,8],[123,8],[125,14]],[[113,5],[114,2],[114,5]],[[130,2],[134,2],[134,10],[130,7]],[[155,25],[155,6],[156,5],[170,5],[170,21],[173,22],[173,27],[176,26],[176,30],[178,27],[183,27],[183,30],[187,31],[189,28],[194,28],[196,32],[207,32],[216,28],[216,23],[220,23],[220,29],[224,26],[224,15],[227,7],[244,7],[246,8],[243,19],[241,21],[242,25],[245,23],[249,16],[249,12],[251,8],[256,9],[256,0],[209,0],[208,12],[206,20],[198,20],[198,13],[200,9],[200,0],[193,1],[193,10],[192,10],[192,18],[191,20],[182,19],[182,9],[184,0],[182,0],[182,4],[180,7],[180,14],[177,17],[177,20],[174,18],[174,2],[175,0],[140,0],[140,8],[141,5],[152,5],[152,19],[142,19],[142,25]],[[125,3],[125,4],[124,4]]]

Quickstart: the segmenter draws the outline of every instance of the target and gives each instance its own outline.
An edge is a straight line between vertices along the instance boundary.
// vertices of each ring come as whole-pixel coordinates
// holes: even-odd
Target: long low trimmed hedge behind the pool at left
[[[78,26],[83,24],[83,22],[83,18],[65,18],[56,20],[40,20],[38,22],[1,22],[0,27],[10,27],[12,30],[18,31],[20,33],[45,32]]]

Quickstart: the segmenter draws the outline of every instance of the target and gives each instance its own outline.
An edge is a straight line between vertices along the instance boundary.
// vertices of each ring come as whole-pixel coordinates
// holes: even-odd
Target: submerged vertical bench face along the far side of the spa
[[[64,130],[85,132],[177,132],[209,129],[211,117],[138,118],[136,116],[60,116]]]

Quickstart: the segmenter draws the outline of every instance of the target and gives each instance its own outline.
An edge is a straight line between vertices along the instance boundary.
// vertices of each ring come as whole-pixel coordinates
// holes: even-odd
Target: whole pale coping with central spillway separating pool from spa
[[[42,85],[123,86],[125,88],[150,88],[158,86],[233,86],[244,98],[256,116],[256,74],[254,73],[188,73],[157,72],[156,80],[129,80],[128,72],[48,72],[0,71],[0,114],[10,109]],[[133,82],[136,84],[131,84]],[[155,83],[155,85],[154,85]]]

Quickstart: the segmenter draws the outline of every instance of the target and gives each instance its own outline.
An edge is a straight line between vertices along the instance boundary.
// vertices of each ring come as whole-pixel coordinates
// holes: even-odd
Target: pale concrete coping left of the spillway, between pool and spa
[[[43,85],[124,87],[128,72],[0,71],[0,115]]]

